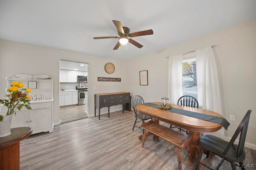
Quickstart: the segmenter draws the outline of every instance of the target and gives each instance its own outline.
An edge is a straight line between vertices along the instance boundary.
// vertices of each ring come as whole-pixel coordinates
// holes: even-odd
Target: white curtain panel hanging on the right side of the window
[[[212,47],[196,50],[196,72],[200,107],[222,115],[218,72]],[[224,137],[223,129],[215,135]]]

